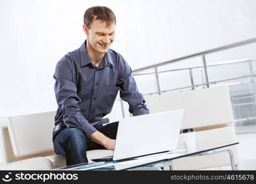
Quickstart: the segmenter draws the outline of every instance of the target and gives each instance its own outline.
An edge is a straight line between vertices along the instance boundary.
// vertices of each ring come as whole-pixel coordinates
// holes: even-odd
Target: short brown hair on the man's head
[[[106,21],[107,25],[113,22],[116,24],[114,12],[106,6],[94,6],[85,11],[83,23],[87,25],[88,28],[90,28],[91,23],[95,19]]]

